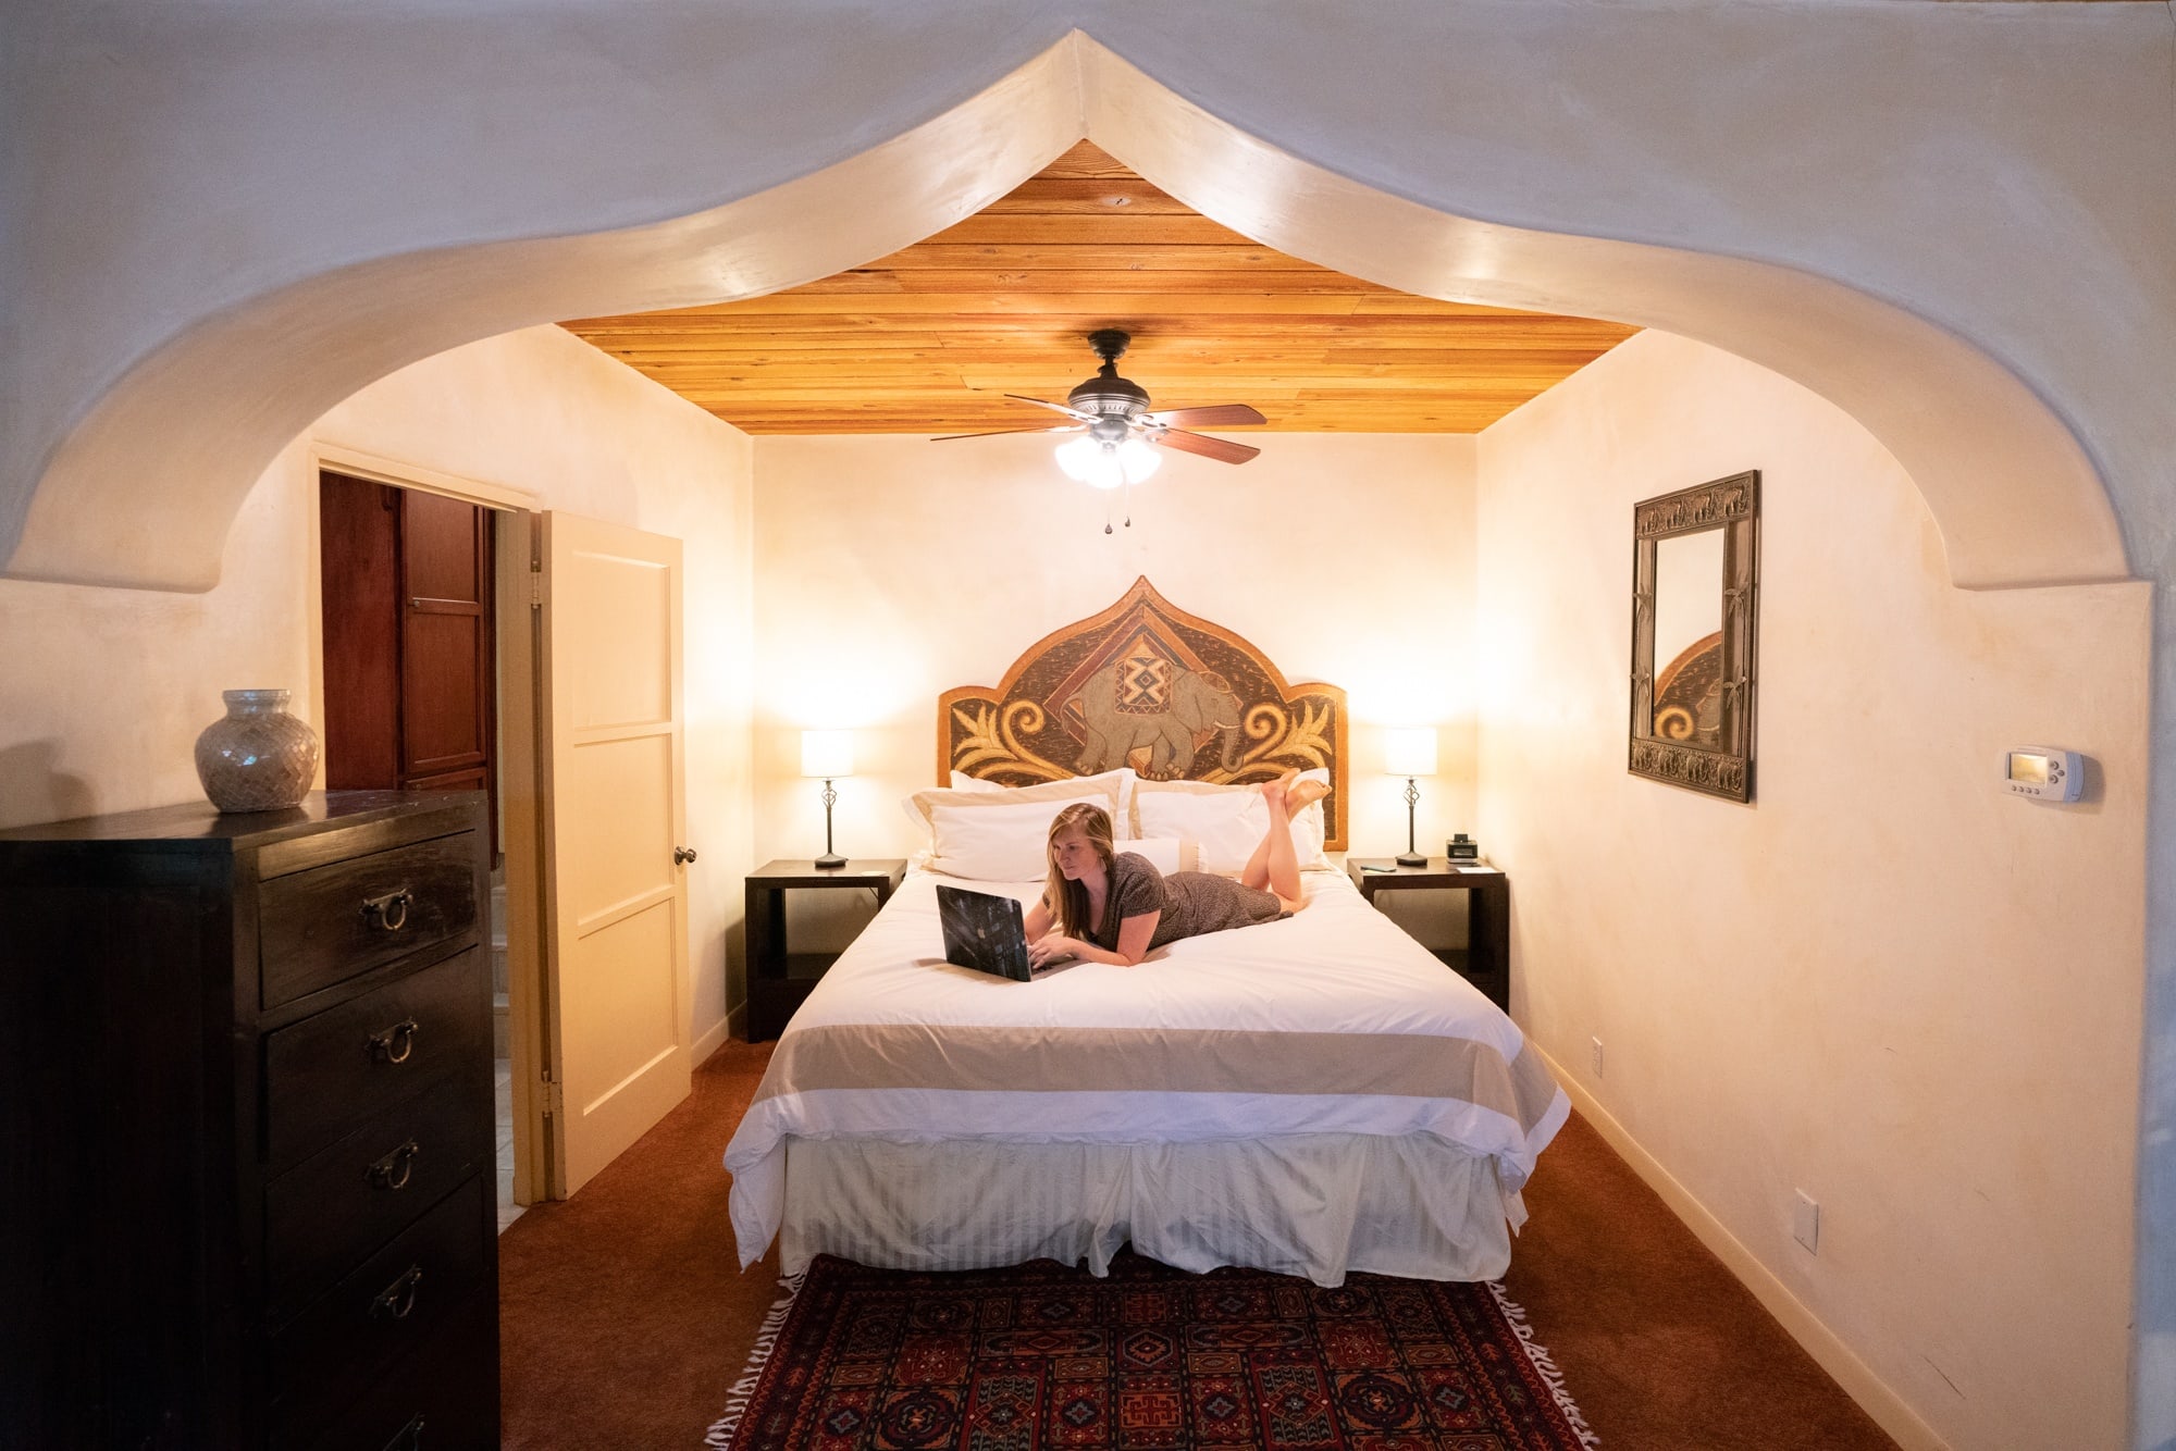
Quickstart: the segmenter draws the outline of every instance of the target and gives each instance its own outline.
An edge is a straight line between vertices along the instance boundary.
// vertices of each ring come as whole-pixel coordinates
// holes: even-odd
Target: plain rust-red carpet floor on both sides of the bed
[[[718,1164],[768,1057],[725,1044],[642,1142],[498,1238],[503,1444],[701,1444],[777,1299],[775,1260],[733,1260]],[[1893,1449],[1580,1118],[1525,1205],[1504,1288],[1608,1451]]]

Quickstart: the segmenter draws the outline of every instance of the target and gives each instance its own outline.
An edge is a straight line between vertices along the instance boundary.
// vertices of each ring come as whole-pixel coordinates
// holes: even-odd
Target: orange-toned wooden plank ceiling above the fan
[[[1151,407],[1251,402],[1269,429],[1478,433],[1636,328],[1434,302],[1275,252],[1081,141],[966,222],[742,302],[566,324],[749,433],[1062,422],[1118,326]],[[1247,431],[1251,433],[1251,429]]]

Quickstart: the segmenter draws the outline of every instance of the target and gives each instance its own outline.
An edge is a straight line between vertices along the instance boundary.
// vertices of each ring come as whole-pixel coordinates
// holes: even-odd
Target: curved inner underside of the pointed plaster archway
[[[1077,30],[886,144],[696,215],[379,257],[200,318],[113,383],[0,518],[13,522],[4,572],[209,590],[265,461],[370,381],[535,322],[860,265],[977,211],[1081,135],[1295,257],[1421,296],[1656,326],[1795,379],[1904,463],[1963,587],[2126,576],[2106,489],[2069,429],[1904,307],[1773,263],[1404,200],[1247,135]]]

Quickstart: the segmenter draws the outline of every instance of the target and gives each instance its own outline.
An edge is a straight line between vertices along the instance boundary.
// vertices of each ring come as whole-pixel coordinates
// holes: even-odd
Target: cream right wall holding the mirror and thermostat
[[[1747,468],[1750,807],[1625,774],[1632,503]],[[1521,1022],[1950,1444],[2119,1444],[2150,587],[1950,587],[1858,424],[1660,333],[1480,435],[1478,520]],[[2089,798],[2008,798],[2015,744]]]

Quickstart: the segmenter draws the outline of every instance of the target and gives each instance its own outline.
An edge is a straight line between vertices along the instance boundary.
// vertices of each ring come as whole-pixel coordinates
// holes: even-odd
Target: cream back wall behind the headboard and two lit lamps
[[[1238,468],[1166,450],[1125,529],[1123,500],[1064,479],[1042,437],[759,437],[757,857],[823,851],[820,787],[799,777],[805,727],[855,729],[840,851],[907,855],[899,801],[938,781],[938,696],[997,685],[1027,646],[1140,574],[1286,679],[1349,692],[1353,851],[1406,844],[1404,783],[1380,774],[1393,724],[1441,731],[1421,842],[1469,829],[1473,439],[1251,442],[1262,455]]]

